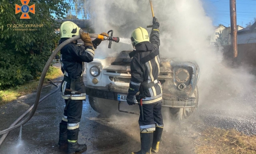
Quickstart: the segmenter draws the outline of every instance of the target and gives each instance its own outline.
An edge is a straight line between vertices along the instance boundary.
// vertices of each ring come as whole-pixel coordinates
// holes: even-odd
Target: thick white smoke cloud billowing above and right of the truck
[[[228,95],[234,89],[236,94],[245,92],[253,77],[244,68],[238,71],[222,65],[222,49],[209,45],[215,27],[204,11],[202,0],[152,0],[152,4],[160,22],[160,55],[195,61],[200,67],[200,103]],[[91,0],[90,7],[94,8],[92,20],[96,33],[112,29],[114,37],[130,38],[137,27],[152,25],[149,0]],[[147,30],[150,33],[151,29]],[[113,42],[112,49],[107,46],[108,41],[102,42],[95,51],[96,58],[132,50],[128,44]]]

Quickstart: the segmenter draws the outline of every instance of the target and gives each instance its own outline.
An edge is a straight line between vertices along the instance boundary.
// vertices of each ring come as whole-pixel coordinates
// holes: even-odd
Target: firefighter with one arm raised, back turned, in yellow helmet
[[[153,18],[153,28],[148,36],[147,30],[139,27],[132,32],[132,46],[136,50],[129,55],[132,58],[130,87],[127,103],[135,104],[136,95],[140,106],[139,128],[141,150],[132,154],[151,154],[159,150],[159,142],[163,131],[162,119],[162,86],[158,81],[160,73],[159,59],[159,22]],[[142,113],[143,110],[143,113]]]

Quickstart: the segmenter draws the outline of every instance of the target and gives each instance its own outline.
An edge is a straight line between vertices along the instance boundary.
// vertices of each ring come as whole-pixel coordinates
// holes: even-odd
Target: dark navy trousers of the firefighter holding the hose
[[[65,99],[67,105],[68,99]],[[64,110],[64,116],[61,123],[67,125],[68,142],[75,143],[78,140],[79,122],[82,116],[83,100],[70,100],[67,110]]]

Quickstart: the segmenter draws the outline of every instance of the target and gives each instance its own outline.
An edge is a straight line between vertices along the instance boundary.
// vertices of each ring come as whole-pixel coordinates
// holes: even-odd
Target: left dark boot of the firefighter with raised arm
[[[151,154],[151,146],[153,142],[152,132],[140,132],[141,148],[138,152],[132,152],[132,154]]]

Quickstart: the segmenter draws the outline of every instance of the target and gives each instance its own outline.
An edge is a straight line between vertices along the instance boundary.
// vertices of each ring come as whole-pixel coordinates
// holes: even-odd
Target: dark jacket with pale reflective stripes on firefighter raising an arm
[[[159,30],[153,29],[150,35],[150,42],[145,41],[136,44],[136,50],[129,55],[133,57],[131,61],[129,95],[146,95],[142,99],[143,104],[158,103],[162,101],[162,86],[158,81],[160,73],[159,59]]]

